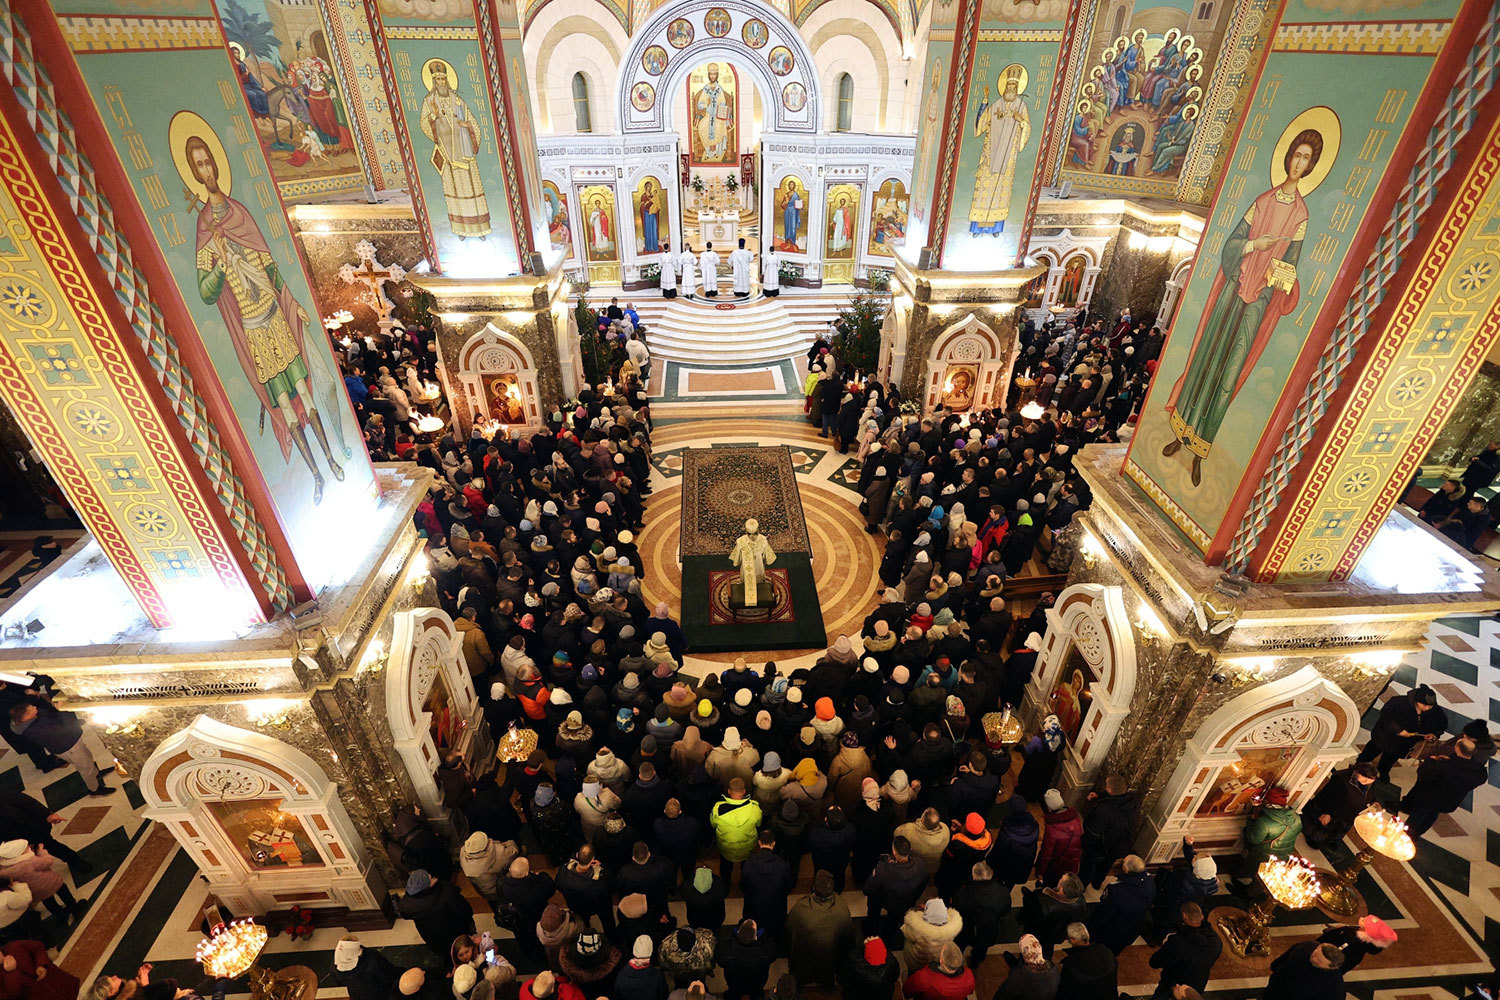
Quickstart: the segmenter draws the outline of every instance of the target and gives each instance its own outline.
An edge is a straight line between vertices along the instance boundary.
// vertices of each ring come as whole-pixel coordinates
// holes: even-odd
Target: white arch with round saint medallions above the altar
[[[796,27],[764,4],[690,0],[657,10],[621,60],[624,132],[674,129],[672,94],[686,85],[694,67],[716,60],[734,64],[741,87],[748,84],[760,91],[771,118],[768,132],[818,130],[818,70]]]

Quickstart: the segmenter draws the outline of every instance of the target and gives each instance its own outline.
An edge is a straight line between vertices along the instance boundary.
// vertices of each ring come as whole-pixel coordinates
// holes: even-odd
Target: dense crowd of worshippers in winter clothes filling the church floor
[[[1128,313],[1028,324],[1017,370],[1034,388],[980,412],[909,412],[894,388],[846,370],[837,340],[814,345],[808,415],[858,450],[861,511],[886,538],[876,604],[812,666],[741,657],[686,670],[693,637],[640,589],[650,361],[628,352],[638,330],[620,312],[598,331],[615,349],[610,378],[543,429],[406,453],[438,474],[417,528],[490,732],[530,730],[536,750],[489,772],[444,748],[452,840],[416,808],[390,817],[404,880],[393,907],[430,961],[400,969],[345,937],[333,981],[354,1000],[792,1000],[807,988],[960,1000],[998,948],[1008,970],[986,1000],[1113,999],[1118,957],[1140,939],[1160,970],[1154,996],[1200,997],[1221,957],[1208,912],[1246,901],[1258,862],[1304,837],[1338,849],[1418,744],[1430,753],[1402,802],[1413,834],[1485,780],[1485,727],[1444,741],[1446,717],[1419,687],[1383,706],[1365,751],[1302,810],[1266,789],[1242,856],[1210,858],[1186,837],[1152,870],[1132,852],[1137,790],[1113,774],[1074,801],[1054,787],[1064,706],[1018,745],[987,724],[1022,703],[1052,603],[1014,606],[1006,582],[1038,543],[1048,561],[1070,558],[1089,504],[1072,457],[1128,438],[1155,367],[1160,333]],[[405,361],[420,376],[422,357],[351,366],[399,396],[386,369]],[[396,405],[390,388],[363,400],[370,418],[380,400]],[[1023,417],[1026,396],[1047,412]],[[38,858],[51,817],[34,813],[0,837]],[[4,889],[39,868],[9,849]],[[478,930],[459,874],[504,933]],[[1342,976],[1395,939],[1376,916],[1332,925],[1281,954],[1260,996],[1342,1000]],[[147,973],[105,976],[90,999],[146,988]]]

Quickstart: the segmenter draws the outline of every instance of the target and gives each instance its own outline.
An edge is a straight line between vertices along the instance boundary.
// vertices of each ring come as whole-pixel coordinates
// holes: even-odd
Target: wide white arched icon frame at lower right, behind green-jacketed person
[[[1311,664],[1230,699],[1188,739],[1146,816],[1142,856],[1170,861],[1184,834],[1200,850],[1238,850],[1251,795],[1278,784],[1300,810],[1358,735],[1359,708]]]

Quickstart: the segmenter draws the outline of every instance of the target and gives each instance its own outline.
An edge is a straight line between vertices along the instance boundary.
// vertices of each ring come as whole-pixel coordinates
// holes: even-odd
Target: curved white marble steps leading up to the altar
[[[681,298],[636,298],[646,346],[664,361],[735,364],[807,351],[849,300],[848,292],[758,298],[734,309]],[[729,304],[720,298],[720,304]]]

